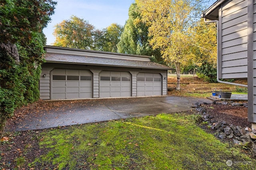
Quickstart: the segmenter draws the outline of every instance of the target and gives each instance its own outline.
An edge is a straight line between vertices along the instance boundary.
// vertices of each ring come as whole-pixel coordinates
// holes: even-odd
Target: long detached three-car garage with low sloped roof
[[[55,46],[45,51],[42,100],[167,95],[172,68],[151,62],[149,56]]]

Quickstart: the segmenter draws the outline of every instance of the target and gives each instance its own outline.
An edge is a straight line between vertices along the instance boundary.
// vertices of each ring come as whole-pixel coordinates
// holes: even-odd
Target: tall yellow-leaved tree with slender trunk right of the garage
[[[204,0],[136,0],[142,20],[148,24],[150,45],[161,49],[166,63],[175,63],[177,90],[180,90],[180,64],[186,65],[196,58],[191,44],[192,25],[200,17]]]

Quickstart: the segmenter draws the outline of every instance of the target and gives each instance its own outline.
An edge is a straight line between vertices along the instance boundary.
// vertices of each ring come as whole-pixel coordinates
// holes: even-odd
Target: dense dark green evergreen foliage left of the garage
[[[0,0],[0,132],[16,107],[39,98],[52,0]]]

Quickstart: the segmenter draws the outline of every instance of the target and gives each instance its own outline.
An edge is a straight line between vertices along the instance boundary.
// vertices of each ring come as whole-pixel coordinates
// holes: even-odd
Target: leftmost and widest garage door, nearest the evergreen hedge
[[[89,70],[52,70],[52,99],[92,98]]]

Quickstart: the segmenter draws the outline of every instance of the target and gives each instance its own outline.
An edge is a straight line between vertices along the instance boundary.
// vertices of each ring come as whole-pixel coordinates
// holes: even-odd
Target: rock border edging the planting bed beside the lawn
[[[214,104],[222,104],[222,103],[214,103]],[[251,143],[252,149],[254,153],[256,153],[256,129],[251,129],[250,127],[241,127],[232,124],[228,124],[225,121],[215,121],[212,116],[207,114],[206,108],[202,107],[203,105],[208,105],[207,103],[194,104],[194,107],[198,113],[202,116],[203,122],[208,122],[208,126],[210,129],[216,131],[218,137],[220,139],[230,139],[235,144],[245,145],[246,143]],[[247,107],[246,103],[232,103],[232,106],[244,106]]]

